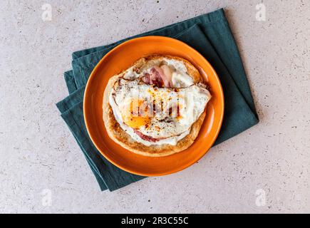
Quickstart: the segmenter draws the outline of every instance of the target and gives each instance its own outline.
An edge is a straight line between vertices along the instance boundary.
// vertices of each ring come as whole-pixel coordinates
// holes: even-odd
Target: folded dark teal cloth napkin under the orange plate
[[[215,68],[225,98],[224,120],[215,145],[258,123],[247,76],[223,9],[130,38],[150,35],[169,36],[187,43],[205,56]],[[56,104],[101,190],[117,190],[144,178],[120,170],[108,162],[91,142],[83,118],[83,94],[91,71],[108,51],[130,38],[74,52],[73,70],[64,73],[69,95]]]

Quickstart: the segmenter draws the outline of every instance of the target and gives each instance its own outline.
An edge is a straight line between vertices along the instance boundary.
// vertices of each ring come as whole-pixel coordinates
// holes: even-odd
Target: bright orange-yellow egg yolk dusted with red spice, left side
[[[148,115],[148,106],[144,100],[131,100],[122,113],[123,121],[130,128],[139,129],[143,125],[150,123],[150,115]]]

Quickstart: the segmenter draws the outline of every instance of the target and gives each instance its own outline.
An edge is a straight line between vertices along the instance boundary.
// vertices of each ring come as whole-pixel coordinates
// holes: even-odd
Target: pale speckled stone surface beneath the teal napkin
[[[181,3],[182,2],[182,3]],[[310,212],[310,2],[0,1],[0,212]],[[100,192],[55,103],[71,53],[225,7],[261,122],[197,164]]]

